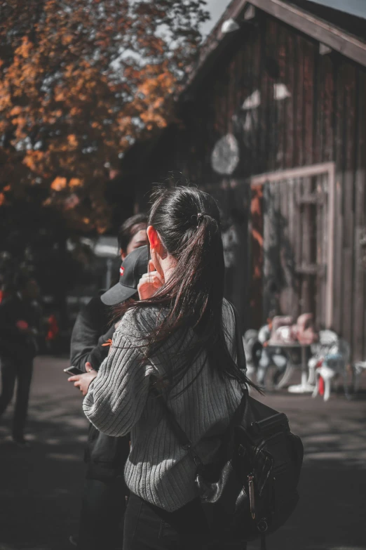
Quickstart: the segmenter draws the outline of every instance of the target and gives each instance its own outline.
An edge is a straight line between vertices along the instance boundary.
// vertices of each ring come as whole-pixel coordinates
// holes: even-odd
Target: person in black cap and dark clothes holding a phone
[[[147,270],[147,246],[132,251],[123,260],[119,282],[100,295],[101,306],[96,310],[89,308],[79,313],[76,320],[71,345],[72,365],[86,371],[69,378],[83,395],[88,392],[90,382],[107,357],[108,342],[112,338],[115,325],[113,306],[133,299],[137,293],[137,284]],[[101,314],[102,312],[102,314]],[[88,315],[86,327],[85,317]],[[110,326],[109,326],[110,325]],[[106,330],[107,329],[107,330]],[[95,343],[95,333],[102,336]],[[107,344],[107,345],[106,345]],[[100,433],[90,424],[85,461],[88,464],[84,485],[83,504],[79,539],[70,539],[79,549],[114,549],[118,541],[118,524],[123,525],[123,513],[126,506],[126,485],[123,481],[123,466],[128,457],[129,438],[114,438]],[[121,544],[120,544],[121,546]]]

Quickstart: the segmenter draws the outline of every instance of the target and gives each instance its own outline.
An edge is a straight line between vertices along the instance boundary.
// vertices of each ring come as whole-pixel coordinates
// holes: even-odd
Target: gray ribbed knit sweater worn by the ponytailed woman
[[[235,317],[225,300],[222,313],[226,342],[235,359]],[[151,374],[161,375],[169,361],[179,362],[177,336],[172,336],[156,357],[151,358],[150,365],[142,366],[140,362],[142,335],[156,326],[157,316],[158,311],[153,308],[130,310],[124,315],[114,333],[109,355],[90,384],[83,410],[90,422],[109,436],[131,432],[125,469],[130,491],[151,504],[174,511],[197,496],[196,466],[168,427],[161,404],[149,395]],[[194,337],[192,331],[187,339]],[[202,354],[179,383],[177,391],[189,384],[203,360]],[[203,462],[209,462],[214,456],[219,436],[238,407],[241,395],[238,383],[221,381],[206,362],[187,391],[169,401]]]

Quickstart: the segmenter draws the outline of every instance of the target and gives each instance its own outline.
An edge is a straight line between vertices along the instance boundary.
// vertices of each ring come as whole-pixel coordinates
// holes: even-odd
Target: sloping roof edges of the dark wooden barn
[[[250,6],[259,8],[366,67],[365,20],[356,18],[354,15],[342,15],[334,8],[320,6],[325,3],[334,5],[335,1],[232,0],[201,46],[200,55],[191,70],[185,91],[193,89],[198,81],[205,77],[219,53],[235,38],[236,32],[222,32],[222,24],[229,19],[233,19],[239,25],[243,24]],[[349,13],[351,8],[355,8],[358,4],[360,4],[358,11],[366,12],[366,0],[337,0],[337,3],[342,4],[344,11]],[[358,29],[358,32],[355,32],[355,29]]]

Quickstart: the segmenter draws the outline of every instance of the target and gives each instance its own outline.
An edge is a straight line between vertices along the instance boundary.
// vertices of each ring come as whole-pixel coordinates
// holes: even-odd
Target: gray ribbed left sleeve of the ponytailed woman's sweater
[[[125,436],[140,419],[154,372],[154,367],[142,363],[138,344],[125,332],[121,326],[114,333],[109,355],[83,401],[86,417],[108,436]]]

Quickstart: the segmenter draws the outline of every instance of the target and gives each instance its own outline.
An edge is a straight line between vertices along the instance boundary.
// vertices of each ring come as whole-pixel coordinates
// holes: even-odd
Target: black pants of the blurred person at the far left
[[[33,360],[29,358],[1,358],[0,416],[13,398],[15,381],[17,395],[13,417],[13,438],[22,439],[27,419],[29,390],[33,374]]]

